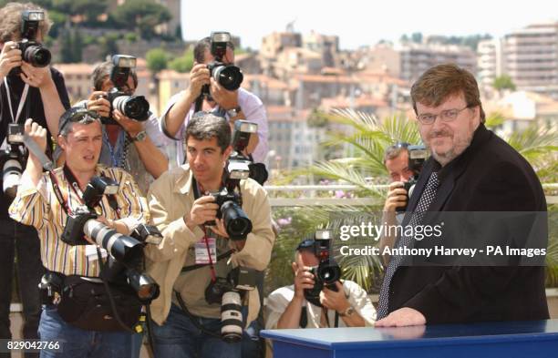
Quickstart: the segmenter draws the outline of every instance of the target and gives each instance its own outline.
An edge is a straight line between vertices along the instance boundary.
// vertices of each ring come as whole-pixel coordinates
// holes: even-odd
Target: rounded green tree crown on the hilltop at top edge
[[[155,35],[155,26],[171,20],[169,10],[152,0],[128,0],[110,16],[119,27],[135,29],[148,39]]]

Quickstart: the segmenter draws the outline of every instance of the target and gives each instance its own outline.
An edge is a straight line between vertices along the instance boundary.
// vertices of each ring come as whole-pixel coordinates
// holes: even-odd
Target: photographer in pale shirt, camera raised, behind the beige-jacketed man
[[[222,33],[218,33],[222,34]],[[224,33],[227,34],[228,33]],[[212,72],[208,64],[215,61],[212,53],[214,41],[211,37],[205,37],[194,47],[194,66],[190,71],[190,87],[171,97],[167,108],[161,116],[161,127],[163,132],[176,140],[177,163],[180,166],[184,162],[184,149],[182,139],[184,129],[197,110],[213,111],[225,116],[231,124],[237,119],[247,119],[258,125],[257,136],[251,138],[247,147],[247,154],[251,154],[255,163],[263,163],[267,156],[267,115],[262,100],[253,93],[241,88],[227,90],[211,76]],[[217,60],[224,65],[234,63],[234,45],[230,40],[223,44],[226,51],[222,58]],[[204,86],[210,86],[209,96],[203,95]],[[203,98],[202,106],[196,108],[196,100]]]

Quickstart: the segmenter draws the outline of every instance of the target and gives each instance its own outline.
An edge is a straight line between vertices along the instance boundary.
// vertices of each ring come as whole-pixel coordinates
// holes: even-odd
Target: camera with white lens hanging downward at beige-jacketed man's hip
[[[218,277],[205,289],[205,301],[221,303],[221,337],[224,342],[240,342],[243,337],[243,293],[255,288],[255,270],[237,267],[226,278]]]

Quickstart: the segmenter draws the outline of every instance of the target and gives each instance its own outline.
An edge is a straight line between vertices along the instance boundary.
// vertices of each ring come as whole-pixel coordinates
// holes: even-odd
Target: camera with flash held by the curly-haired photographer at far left
[[[24,10],[21,13],[21,38],[17,48],[21,57],[31,66],[46,67],[50,64],[51,54],[46,47],[36,41],[38,26],[45,19],[45,13],[37,10]],[[18,68],[21,72],[21,68]]]

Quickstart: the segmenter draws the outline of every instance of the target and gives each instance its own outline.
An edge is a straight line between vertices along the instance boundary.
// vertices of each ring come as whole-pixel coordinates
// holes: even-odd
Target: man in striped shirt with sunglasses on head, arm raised
[[[83,302],[96,302],[88,285],[100,285],[98,277],[101,262],[100,252],[95,246],[67,244],[64,233],[69,227],[67,212],[76,215],[86,200],[84,193],[96,176],[103,176],[118,183],[118,191],[110,196],[103,195],[98,204],[98,220],[88,223],[103,223],[128,235],[149,215],[145,202],[139,196],[138,187],[131,176],[122,169],[98,165],[102,143],[100,120],[95,112],[85,109],[69,109],[60,119],[58,144],[64,150],[66,163],[63,168],[43,174],[43,164],[33,152],[27,160],[21,186],[10,207],[10,216],[23,224],[36,228],[40,237],[41,259],[49,275],[57,277],[58,284],[48,285],[39,334],[42,341],[58,341],[61,352],[42,351],[48,357],[123,357],[130,356],[132,333],[94,329],[88,324],[107,320],[105,315],[93,315]],[[47,130],[32,119],[27,119],[26,134],[40,149],[47,147]],[[87,201],[85,201],[87,203]],[[80,229],[81,236],[83,229]],[[105,231],[107,232],[107,231]],[[109,237],[110,232],[105,238]],[[95,233],[98,236],[98,233]],[[118,236],[116,232],[110,238]],[[115,241],[116,242],[116,241]],[[116,243],[114,243],[116,245]],[[93,249],[93,250],[91,250]],[[110,249],[111,254],[113,252]],[[84,277],[86,279],[84,279]],[[45,277],[43,278],[45,280]],[[78,283],[76,283],[78,281]],[[74,283],[70,283],[74,282]],[[84,287],[84,289],[79,289]],[[51,292],[50,290],[52,289]],[[97,289],[96,289],[97,290]],[[67,296],[68,292],[71,292]],[[117,302],[127,296],[118,295]],[[120,307],[120,306],[119,306]],[[123,314],[123,313],[121,313]],[[70,318],[71,316],[71,318]],[[106,322],[114,322],[114,317]],[[80,322],[78,325],[77,322]],[[102,322],[105,323],[105,322]]]

